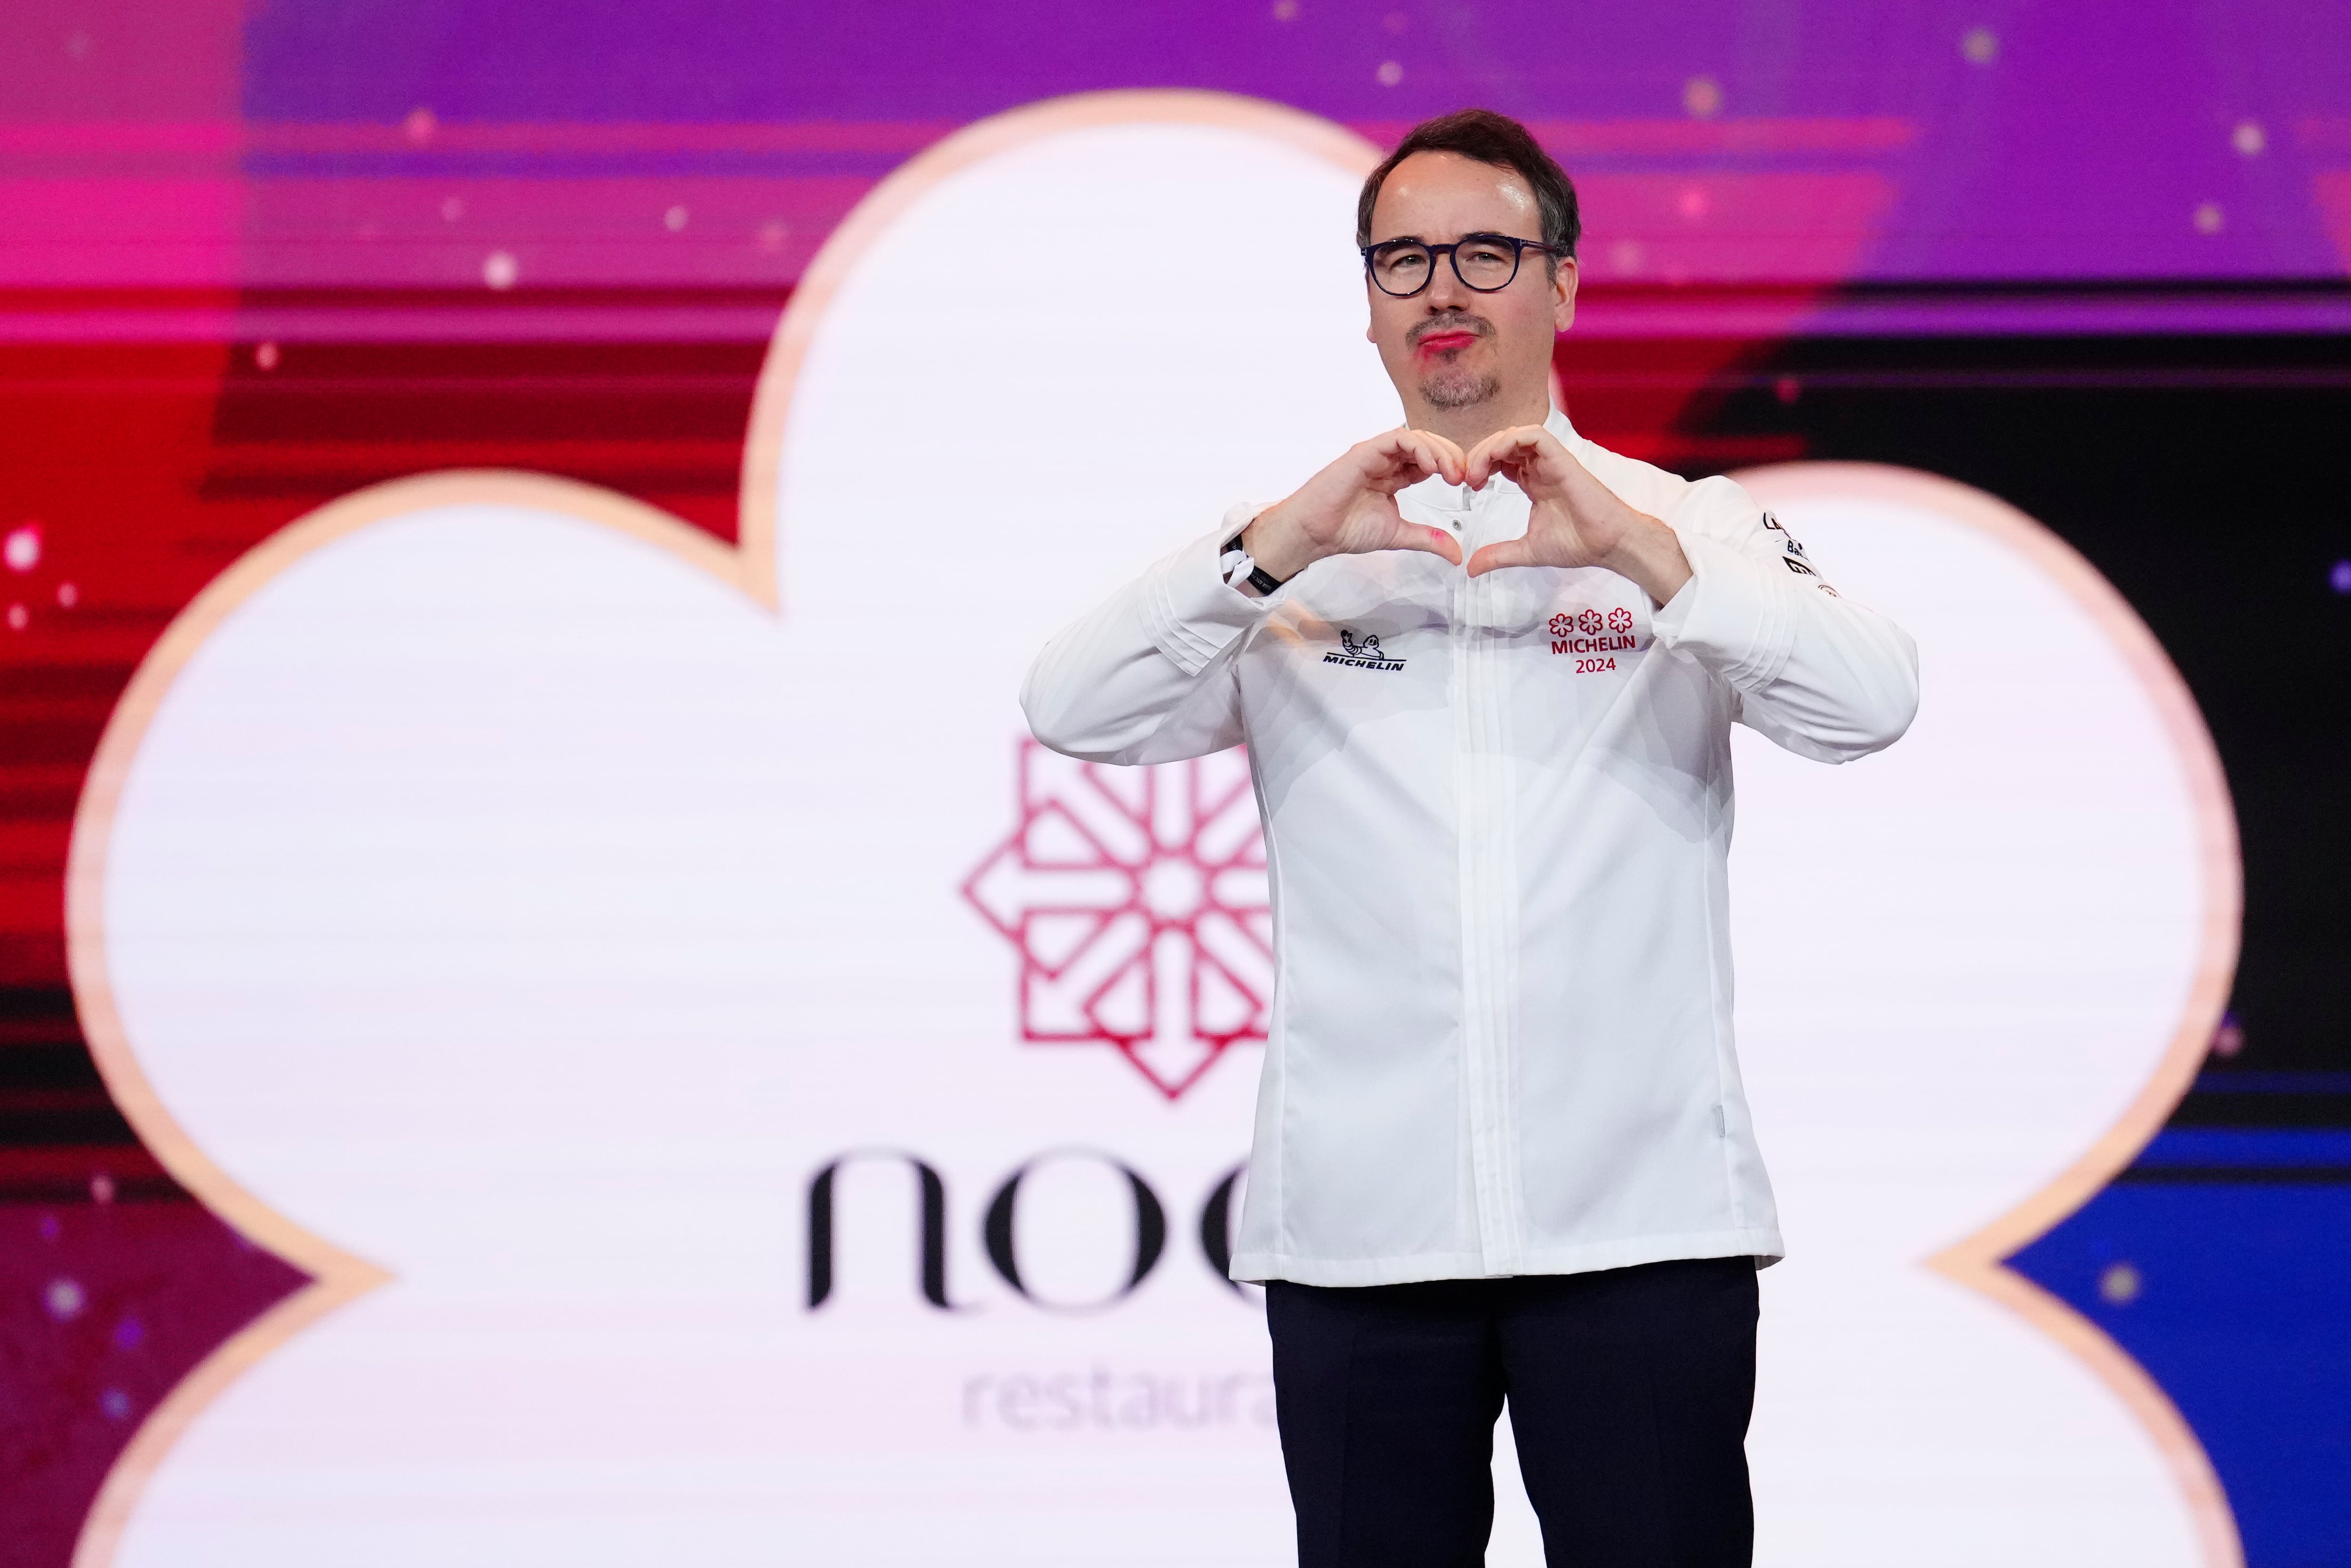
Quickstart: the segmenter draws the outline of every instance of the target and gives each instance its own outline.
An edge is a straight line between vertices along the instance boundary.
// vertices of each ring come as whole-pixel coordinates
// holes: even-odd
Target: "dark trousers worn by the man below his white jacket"
[[[1265,1286],[1300,1568],[1476,1568],[1509,1401],[1549,1568],[1747,1568],[1749,1258]]]

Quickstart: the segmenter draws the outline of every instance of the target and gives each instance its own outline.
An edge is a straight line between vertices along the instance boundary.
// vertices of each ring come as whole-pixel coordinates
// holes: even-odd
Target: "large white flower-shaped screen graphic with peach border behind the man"
[[[1288,1561],[1262,1324],[1211,1267],[1251,1074],[1176,1100],[1025,1048],[962,884],[1041,639],[1394,421],[1347,247],[1371,155],[1194,94],[983,122],[795,296],[738,548],[430,475],[183,614],[85,792],[75,994],[148,1145],[317,1284],[146,1422],[82,1568]],[[1253,237],[1244,292],[1199,287],[1201,235]],[[1072,254],[1114,263],[1039,266]],[[1881,759],[1742,741],[1740,1027],[1794,1246],[1759,1559],[2226,1568],[2161,1392],[1998,1267],[2154,1131],[2226,994],[2210,745],[1998,503],[1751,482],[1928,661]],[[924,602],[987,607],[955,661],[875,632]],[[1176,879],[1161,919],[1206,907]],[[1535,1561],[1502,1497],[1493,1561]]]

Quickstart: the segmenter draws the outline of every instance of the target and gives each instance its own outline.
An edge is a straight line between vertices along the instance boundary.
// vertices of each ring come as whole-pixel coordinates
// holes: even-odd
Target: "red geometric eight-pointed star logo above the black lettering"
[[[1265,1039],[1274,919],[1241,750],[1119,769],[1020,741],[1020,823],[964,898],[1020,950],[1020,1039],[1117,1046],[1178,1098]]]

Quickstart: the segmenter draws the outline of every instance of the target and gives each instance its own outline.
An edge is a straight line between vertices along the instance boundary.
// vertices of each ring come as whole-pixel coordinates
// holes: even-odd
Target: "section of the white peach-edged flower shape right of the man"
[[[2012,508],[1871,465],[1742,480],[1923,670],[1864,766],[1735,731],[1740,1060],[1789,1244],[1763,1276],[1759,1561],[2236,1561],[2170,1401],[1996,1267],[2144,1145],[2229,992],[2203,722],[2121,595]]]

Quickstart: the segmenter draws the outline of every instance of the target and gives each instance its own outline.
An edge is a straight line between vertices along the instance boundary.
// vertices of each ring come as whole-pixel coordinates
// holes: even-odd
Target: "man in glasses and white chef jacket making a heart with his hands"
[[[1552,1563],[1747,1563],[1756,1281],[1730,1044],[1730,738],[1846,762],[1916,651],[1730,480],[1549,407],[1575,190],[1514,120],[1364,183],[1406,425],[1237,508],[1030,672],[1037,738],[1246,741],[1277,1004],[1237,1279],[1265,1281],[1307,1568],[1483,1556],[1507,1396]]]

